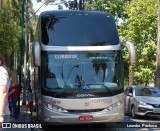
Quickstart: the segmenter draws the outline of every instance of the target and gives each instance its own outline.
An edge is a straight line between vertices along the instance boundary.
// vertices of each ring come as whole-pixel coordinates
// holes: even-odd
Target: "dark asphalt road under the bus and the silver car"
[[[125,116],[122,123],[52,126],[43,128],[41,131],[50,131],[53,129],[54,131],[160,131],[160,117],[139,117],[138,119],[132,119],[129,116]]]

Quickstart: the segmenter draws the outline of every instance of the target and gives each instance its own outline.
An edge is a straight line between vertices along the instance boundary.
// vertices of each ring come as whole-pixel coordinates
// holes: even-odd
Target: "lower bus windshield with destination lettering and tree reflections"
[[[121,58],[115,52],[42,54],[43,88],[50,92],[108,92],[123,89]],[[120,91],[120,92],[119,92]]]

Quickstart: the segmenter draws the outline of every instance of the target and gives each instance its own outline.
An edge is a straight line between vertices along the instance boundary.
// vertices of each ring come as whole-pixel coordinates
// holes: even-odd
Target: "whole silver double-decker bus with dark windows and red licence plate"
[[[134,64],[134,45],[126,45]],[[42,12],[33,47],[39,119],[55,125],[123,121],[122,48],[109,13]]]

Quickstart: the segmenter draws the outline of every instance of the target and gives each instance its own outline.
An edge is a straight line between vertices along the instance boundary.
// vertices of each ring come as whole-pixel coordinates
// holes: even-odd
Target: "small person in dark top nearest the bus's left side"
[[[27,90],[26,114],[28,109],[30,109],[30,112],[32,113],[32,107],[33,107],[33,94],[32,94],[32,89],[29,87]]]

